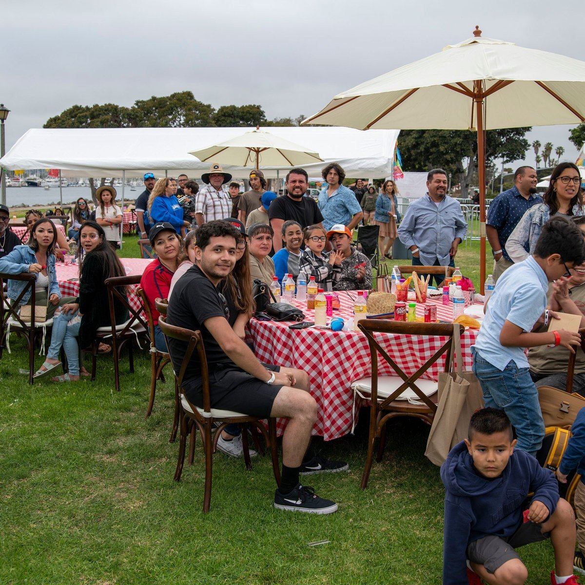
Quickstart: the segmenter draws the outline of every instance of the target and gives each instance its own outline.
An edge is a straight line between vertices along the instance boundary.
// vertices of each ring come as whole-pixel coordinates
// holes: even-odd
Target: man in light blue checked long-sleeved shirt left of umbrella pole
[[[408,205],[402,218],[398,238],[411,250],[412,266],[455,266],[467,222],[459,201],[447,195],[447,185],[447,173],[433,168],[426,177],[428,192]],[[435,275],[436,283],[443,278]]]

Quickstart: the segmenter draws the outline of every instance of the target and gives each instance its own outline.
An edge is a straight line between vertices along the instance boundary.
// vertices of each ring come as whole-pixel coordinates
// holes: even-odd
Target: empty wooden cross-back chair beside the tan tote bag
[[[409,323],[378,319],[362,319],[359,329],[366,334],[370,345],[371,377],[362,378],[352,384],[355,394],[370,402],[370,430],[366,466],[362,476],[362,489],[365,490],[370,476],[371,463],[374,453],[374,441],[380,438],[376,461],[380,462],[386,445],[386,423],[395,417],[420,418],[432,424],[437,410],[438,383],[433,380],[422,380],[421,376],[435,362],[445,355],[445,371],[450,371],[450,350],[453,343],[453,327],[459,327],[463,333],[463,325],[436,324],[436,323]],[[395,335],[419,335],[425,337],[446,337],[445,343],[429,357],[414,374],[408,376],[401,367],[388,355],[386,349],[379,343],[380,338],[374,333]],[[392,376],[378,375],[378,353],[386,360],[396,374]],[[408,400],[398,400],[401,395],[411,390]],[[404,398],[404,396],[402,396]]]

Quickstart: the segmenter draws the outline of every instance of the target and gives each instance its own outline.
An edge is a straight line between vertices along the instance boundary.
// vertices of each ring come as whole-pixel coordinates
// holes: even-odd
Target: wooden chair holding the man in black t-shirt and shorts
[[[209,375],[207,369],[207,358],[205,357],[205,348],[203,340],[199,331],[191,331],[182,327],[168,325],[164,316],[160,316],[159,325],[162,329],[165,338],[178,339],[187,343],[187,350],[181,363],[181,368],[175,371],[174,374],[177,379],[177,388],[180,393],[180,438],[179,438],[179,454],[177,460],[177,469],[175,471],[174,480],[180,481],[181,473],[183,472],[183,463],[185,461],[185,449],[187,445],[187,436],[191,435],[191,441],[195,441],[195,434],[191,433],[194,425],[197,426],[201,432],[203,443],[203,450],[205,454],[205,491],[203,497],[203,512],[209,511],[211,504],[211,479],[213,466],[213,453],[215,453],[216,445],[223,429],[229,424],[243,424],[252,425],[259,429],[263,434],[266,445],[270,445],[270,455],[272,459],[272,469],[277,485],[280,485],[280,469],[278,467],[278,453],[276,449],[276,419],[269,419],[269,431],[266,431],[261,419],[256,417],[249,417],[240,412],[233,412],[229,410],[221,410],[211,408],[211,397],[209,395]],[[199,408],[192,404],[183,391],[183,377],[187,365],[191,360],[192,355],[197,350],[199,363],[201,364],[201,378],[202,378],[202,393],[203,393],[203,408]],[[174,369],[174,368],[173,368]],[[214,428],[214,423],[219,422],[219,426],[212,436],[211,432]],[[248,439],[246,429],[242,431],[242,446],[244,453],[244,461],[247,469],[252,469],[252,462],[250,460],[250,452],[248,449]]]

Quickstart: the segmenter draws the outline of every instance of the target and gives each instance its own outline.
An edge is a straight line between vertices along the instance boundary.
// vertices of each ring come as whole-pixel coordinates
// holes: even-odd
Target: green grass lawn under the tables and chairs
[[[125,239],[123,255],[137,256],[136,239]],[[473,246],[457,257],[475,281]],[[349,461],[351,471],[309,476],[339,503],[324,517],[274,510],[270,457],[257,457],[249,472],[217,453],[204,515],[200,450],[173,481],[170,369],[144,419],[146,352],[133,375],[122,357],[116,393],[111,355],[99,357],[95,383],[29,386],[15,373],[27,362],[23,342],[12,336],[11,349],[0,361],[0,583],[441,583],[443,486],[423,455],[421,422],[391,424],[366,491],[367,417],[354,436],[327,443],[326,455]],[[308,546],[321,540],[330,542]],[[550,582],[550,543],[522,556],[528,583]]]

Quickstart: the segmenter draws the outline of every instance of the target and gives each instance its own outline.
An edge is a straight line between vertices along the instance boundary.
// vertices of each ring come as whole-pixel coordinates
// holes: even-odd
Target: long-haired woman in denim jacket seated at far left
[[[0,272],[7,274],[36,274],[35,304],[47,307],[47,321],[53,318],[58,305],[70,301],[70,297],[61,298],[57,273],[55,270],[54,248],[57,241],[57,228],[47,218],[35,222],[30,230],[29,243],[16,246],[11,253],[0,258]],[[16,300],[26,287],[25,281],[8,280],[8,297]],[[30,304],[31,291],[28,290],[20,306]]]

